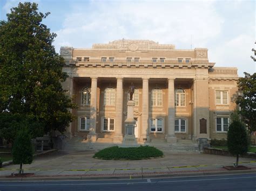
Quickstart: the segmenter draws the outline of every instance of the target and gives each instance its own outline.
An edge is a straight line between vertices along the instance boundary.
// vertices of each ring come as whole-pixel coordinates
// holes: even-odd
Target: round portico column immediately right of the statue
[[[149,79],[143,78],[142,81],[142,135],[140,135],[140,142],[149,142]]]

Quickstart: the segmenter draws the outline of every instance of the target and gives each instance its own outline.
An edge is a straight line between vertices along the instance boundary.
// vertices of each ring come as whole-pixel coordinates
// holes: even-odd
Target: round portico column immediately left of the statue
[[[123,77],[117,77],[116,125],[114,127],[114,143],[123,142]]]

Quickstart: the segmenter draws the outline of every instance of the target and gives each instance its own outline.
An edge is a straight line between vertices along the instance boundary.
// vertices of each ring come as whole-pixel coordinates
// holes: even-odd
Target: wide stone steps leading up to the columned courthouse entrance
[[[158,148],[164,153],[199,153],[198,144],[192,140],[177,140],[177,144],[166,143],[165,139],[151,139],[150,143],[142,144]],[[89,143],[81,137],[67,140],[66,151],[99,151],[106,147],[119,146],[113,143],[112,138],[98,138],[96,143]],[[134,146],[134,145],[133,145]]]

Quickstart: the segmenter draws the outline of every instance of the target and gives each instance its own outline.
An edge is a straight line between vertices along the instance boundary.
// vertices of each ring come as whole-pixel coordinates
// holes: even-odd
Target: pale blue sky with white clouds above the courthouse
[[[27,0],[29,1],[29,0]],[[0,0],[0,20],[18,5]],[[255,1],[83,1],[34,0],[60,46],[91,48],[118,39],[153,40],[176,49],[208,48],[216,67],[237,67],[239,76],[256,72]],[[253,55],[254,56],[254,55]]]

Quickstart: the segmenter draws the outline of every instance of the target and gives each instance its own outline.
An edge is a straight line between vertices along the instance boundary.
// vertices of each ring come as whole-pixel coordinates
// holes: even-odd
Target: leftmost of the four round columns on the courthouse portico
[[[97,122],[97,77],[91,77],[91,105],[90,105],[90,132],[87,136],[89,142],[96,142],[96,122]]]

